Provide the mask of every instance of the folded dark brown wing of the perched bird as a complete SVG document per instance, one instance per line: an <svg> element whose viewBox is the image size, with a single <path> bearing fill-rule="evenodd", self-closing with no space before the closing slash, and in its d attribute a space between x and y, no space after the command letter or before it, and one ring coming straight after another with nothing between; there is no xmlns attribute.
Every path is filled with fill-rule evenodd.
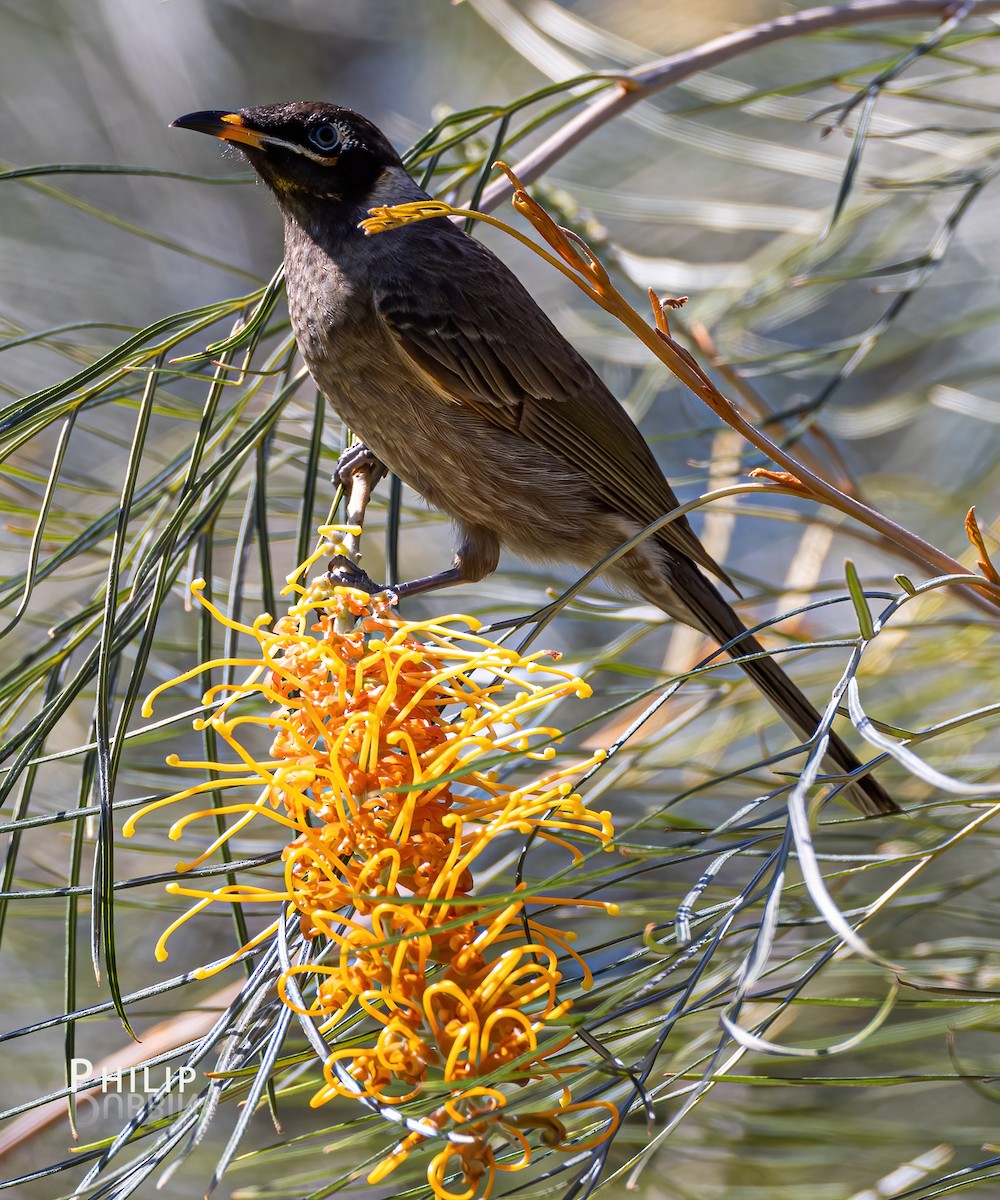
<svg viewBox="0 0 1000 1200"><path fill-rule="evenodd" d="M517 277L450 223L431 240L427 226L436 224L399 230L423 233L424 245L415 254L394 256L385 283L373 287L400 347L456 403L586 474L612 510L645 526L676 508L628 413ZM403 258L418 264L412 274L401 269ZM732 587L685 520L658 538Z"/></svg>

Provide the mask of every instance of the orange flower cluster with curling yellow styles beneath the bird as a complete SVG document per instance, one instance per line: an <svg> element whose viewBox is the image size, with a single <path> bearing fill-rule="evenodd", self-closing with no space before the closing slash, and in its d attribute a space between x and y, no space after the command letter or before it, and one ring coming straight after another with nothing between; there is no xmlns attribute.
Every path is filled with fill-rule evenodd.
<svg viewBox="0 0 1000 1200"><path fill-rule="evenodd" d="M529 912L594 901L533 895L523 886L487 896L474 878L477 859L491 846L496 858L497 839L508 835L516 845L526 835L547 839L577 860L581 851L570 839L609 844L609 814L588 809L571 782L600 755L523 784L498 770L555 757L558 731L531 724L533 714L589 689L544 654L521 656L480 637L472 618L403 622L387 604L324 580L292 587L298 600L273 629L267 617L234 625L196 589L220 620L259 647L258 658L239 660L251 668L248 679L210 689L204 702L212 713L196 722L211 725L236 762L181 764L172 756L176 766L211 767L221 778L146 805L125 828L131 835L142 816L188 796L256 785L256 799L190 814L169 835L218 812L236 816L181 866L190 869L250 821L275 821L288 832L285 889L172 884L197 904L163 934L157 958L166 956L173 930L212 902L279 900L285 912L298 912L303 934L322 953L282 978L282 1000L318 1019L323 1031L342 1030L346 1019L352 1031L373 1030L373 1040L357 1034L331 1052L313 1105L333 1097L389 1105L436 1097L435 1111L419 1118L420 1132L369 1181L383 1180L435 1140L441 1148L427 1168L433 1194L486 1196L498 1170L528 1165L532 1132L547 1147L576 1152L593 1142L571 1138L563 1117L581 1109L591 1124L600 1117L595 1141L617 1120L612 1105L574 1104L563 1082L571 1068L547 1061L571 1040L564 1021L559 1027L570 1007L558 995L561 960L575 961L583 986L591 977L569 935ZM181 679L233 664L216 660ZM146 714L162 690L146 701ZM264 698L269 712L234 712L247 697ZM245 728L262 725L274 732L263 761L247 748ZM276 929L277 922L251 944ZM359 1026L364 1016L370 1021ZM544 1080L561 1093L555 1109L508 1110L509 1085Z"/></svg>

